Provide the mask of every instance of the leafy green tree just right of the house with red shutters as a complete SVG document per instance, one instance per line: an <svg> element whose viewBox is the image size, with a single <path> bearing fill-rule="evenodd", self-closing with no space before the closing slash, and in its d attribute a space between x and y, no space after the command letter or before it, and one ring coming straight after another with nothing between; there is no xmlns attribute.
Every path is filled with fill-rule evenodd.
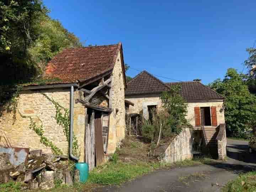
<svg viewBox="0 0 256 192"><path fill-rule="evenodd" d="M247 137L255 125L256 97L247 86L247 76L230 68L223 80L217 79L209 86L225 97L224 113L227 134L232 137Z"/></svg>

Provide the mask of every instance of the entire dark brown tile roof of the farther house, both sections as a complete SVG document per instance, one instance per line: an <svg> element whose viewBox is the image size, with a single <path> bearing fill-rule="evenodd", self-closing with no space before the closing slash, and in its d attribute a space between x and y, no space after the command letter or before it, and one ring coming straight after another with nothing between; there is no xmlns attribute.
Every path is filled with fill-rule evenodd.
<svg viewBox="0 0 256 192"><path fill-rule="evenodd" d="M223 96L197 81L164 83L147 71L142 71L128 84L125 95L153 94L168 91L170 86L180 85L181 96L186 101L224 99Z"/></svg>

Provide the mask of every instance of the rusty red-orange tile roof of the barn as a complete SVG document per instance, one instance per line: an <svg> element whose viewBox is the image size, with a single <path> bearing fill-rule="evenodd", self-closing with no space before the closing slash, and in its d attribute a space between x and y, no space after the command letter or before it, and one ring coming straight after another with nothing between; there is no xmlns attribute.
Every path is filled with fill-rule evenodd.
<svg viewBox="0 0 256 192"><path fill-rule="evenodd" d="M64 49L46 66L46 78L59 78L62 83L88 81L110 72L122 44Z"/></svg>

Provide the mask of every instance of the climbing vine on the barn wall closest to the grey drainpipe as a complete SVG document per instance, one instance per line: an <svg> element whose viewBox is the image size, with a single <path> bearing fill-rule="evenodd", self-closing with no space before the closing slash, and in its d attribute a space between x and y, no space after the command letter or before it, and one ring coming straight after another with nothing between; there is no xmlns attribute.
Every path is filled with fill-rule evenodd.
<svg viewBox="0 0 256 192"><path fill-rule="evenodd" d="M66 140L67 142L69 142L69 125L70 125L69 110L61 106L58 102L54 101L52 98L48 97L46 94L44 93L41 93L41 94L54 104L56 108L56 115L55 115L56 122L59 126L63 128L63 132L66 136ZM62 111L64 111L64 114L62 113ZM79 156L80 154L78 139L74 134L73 134L73 153L75 156Z"/></svg>

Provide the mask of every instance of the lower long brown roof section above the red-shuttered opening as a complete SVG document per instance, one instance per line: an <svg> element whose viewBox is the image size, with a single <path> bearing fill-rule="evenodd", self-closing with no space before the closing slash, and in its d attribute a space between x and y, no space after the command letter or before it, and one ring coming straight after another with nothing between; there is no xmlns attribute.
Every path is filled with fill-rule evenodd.
<svg viewBox="0 0 256 192"><path fill-rule="evenodd" d="M224 99L222 95L218 94L216 91L210 89L210 87L203 85L198 81L169 82L166 84L168 86L180 85L181 96L186 101Z"/></svg>

